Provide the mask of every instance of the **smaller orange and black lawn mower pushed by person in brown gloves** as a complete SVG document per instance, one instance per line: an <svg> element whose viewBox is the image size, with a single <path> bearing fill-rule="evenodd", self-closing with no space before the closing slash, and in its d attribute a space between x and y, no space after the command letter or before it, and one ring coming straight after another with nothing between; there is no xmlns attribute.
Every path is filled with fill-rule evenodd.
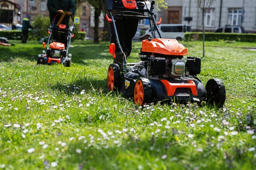
<svg viewBox="0 0 256 170"><path fill-rule="evenodd" d="M57 23L55 22L55 19L56 19L56 16L55 16L50 29L48 29L49 38L47 41L47 49L45 51L45 42L43 42L44 50L42 54L38 54L37 64L48 64L48 65L63 64L64 66L67 66L67 67L70 66L72 54L68 53L68 51L70 48L71 38L74 37L74 34L73 34L74 19L71 16L72 18L71 26L60 24L63 18L65 17L65 15L66 13L63 13ZM67 40L66 40L67 46L65 46L65 43L59 40L51 40L51 36L54 33L56 34L61 33L61 34L67 35Z"/></svg>

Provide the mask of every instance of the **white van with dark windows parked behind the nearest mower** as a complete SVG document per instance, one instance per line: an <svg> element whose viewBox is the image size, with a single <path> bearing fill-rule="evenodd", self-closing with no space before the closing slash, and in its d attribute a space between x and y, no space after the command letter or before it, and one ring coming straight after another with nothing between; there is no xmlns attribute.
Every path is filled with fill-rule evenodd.
<svg viewBox="0 0 256 170"><path fill-rule="evenodd" d="M184 34L186 32L191 32L191 25L189 24L160 24L158 28L163 36L163 38L171 38L181 41L184 39ZM151 29L147 29L146 33L151 34ZM156 32L156 38L159 38Z"/></svg>

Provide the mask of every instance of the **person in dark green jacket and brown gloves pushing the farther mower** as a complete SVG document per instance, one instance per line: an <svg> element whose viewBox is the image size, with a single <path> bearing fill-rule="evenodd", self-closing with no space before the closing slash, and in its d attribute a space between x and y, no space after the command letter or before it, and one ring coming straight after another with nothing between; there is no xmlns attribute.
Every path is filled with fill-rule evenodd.
<svg viewBox="0 0 256 170"><path fill-rule="evenodd" d="M49 10L50 15L50 22L51 24L54 21L55 18L55 24L57 24L58 20L61 18L61 15L65 12L66 15L61 21L61 24L65 24L69 26L70 23L70 16L74 15L76 12L76 4L74 0L47 0L47 8ZM54 40L59 40L60 42L63 42L65 44L65 48L67 48L67 35L62 34L53 34Z"/></svg>

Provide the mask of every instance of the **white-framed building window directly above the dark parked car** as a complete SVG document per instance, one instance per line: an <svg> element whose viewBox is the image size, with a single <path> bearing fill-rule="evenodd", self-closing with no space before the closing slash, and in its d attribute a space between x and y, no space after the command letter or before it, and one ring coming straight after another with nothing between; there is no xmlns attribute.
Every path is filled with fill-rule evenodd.
<svg viewBox="0 0 256 170"><path fill-rule="evenodd" d="M243 9L229 9L228 24L241 25Z"/></svg>

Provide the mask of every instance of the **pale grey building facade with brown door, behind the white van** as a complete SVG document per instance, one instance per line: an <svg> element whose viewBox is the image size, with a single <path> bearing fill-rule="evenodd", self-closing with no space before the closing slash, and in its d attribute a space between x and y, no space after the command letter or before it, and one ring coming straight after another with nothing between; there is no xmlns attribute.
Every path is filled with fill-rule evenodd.
<svg viewBox="0 0 256 170"><path fill-rule="evenodd" d="M207 2L208 0L206 0ZM163 24L191 24L192 31L202 31L202 13L195 0L165 0L167 10L159 11ZM205 31L225 25L244 26L256 33L256 0L216 0L204 17Z"/></svg>

